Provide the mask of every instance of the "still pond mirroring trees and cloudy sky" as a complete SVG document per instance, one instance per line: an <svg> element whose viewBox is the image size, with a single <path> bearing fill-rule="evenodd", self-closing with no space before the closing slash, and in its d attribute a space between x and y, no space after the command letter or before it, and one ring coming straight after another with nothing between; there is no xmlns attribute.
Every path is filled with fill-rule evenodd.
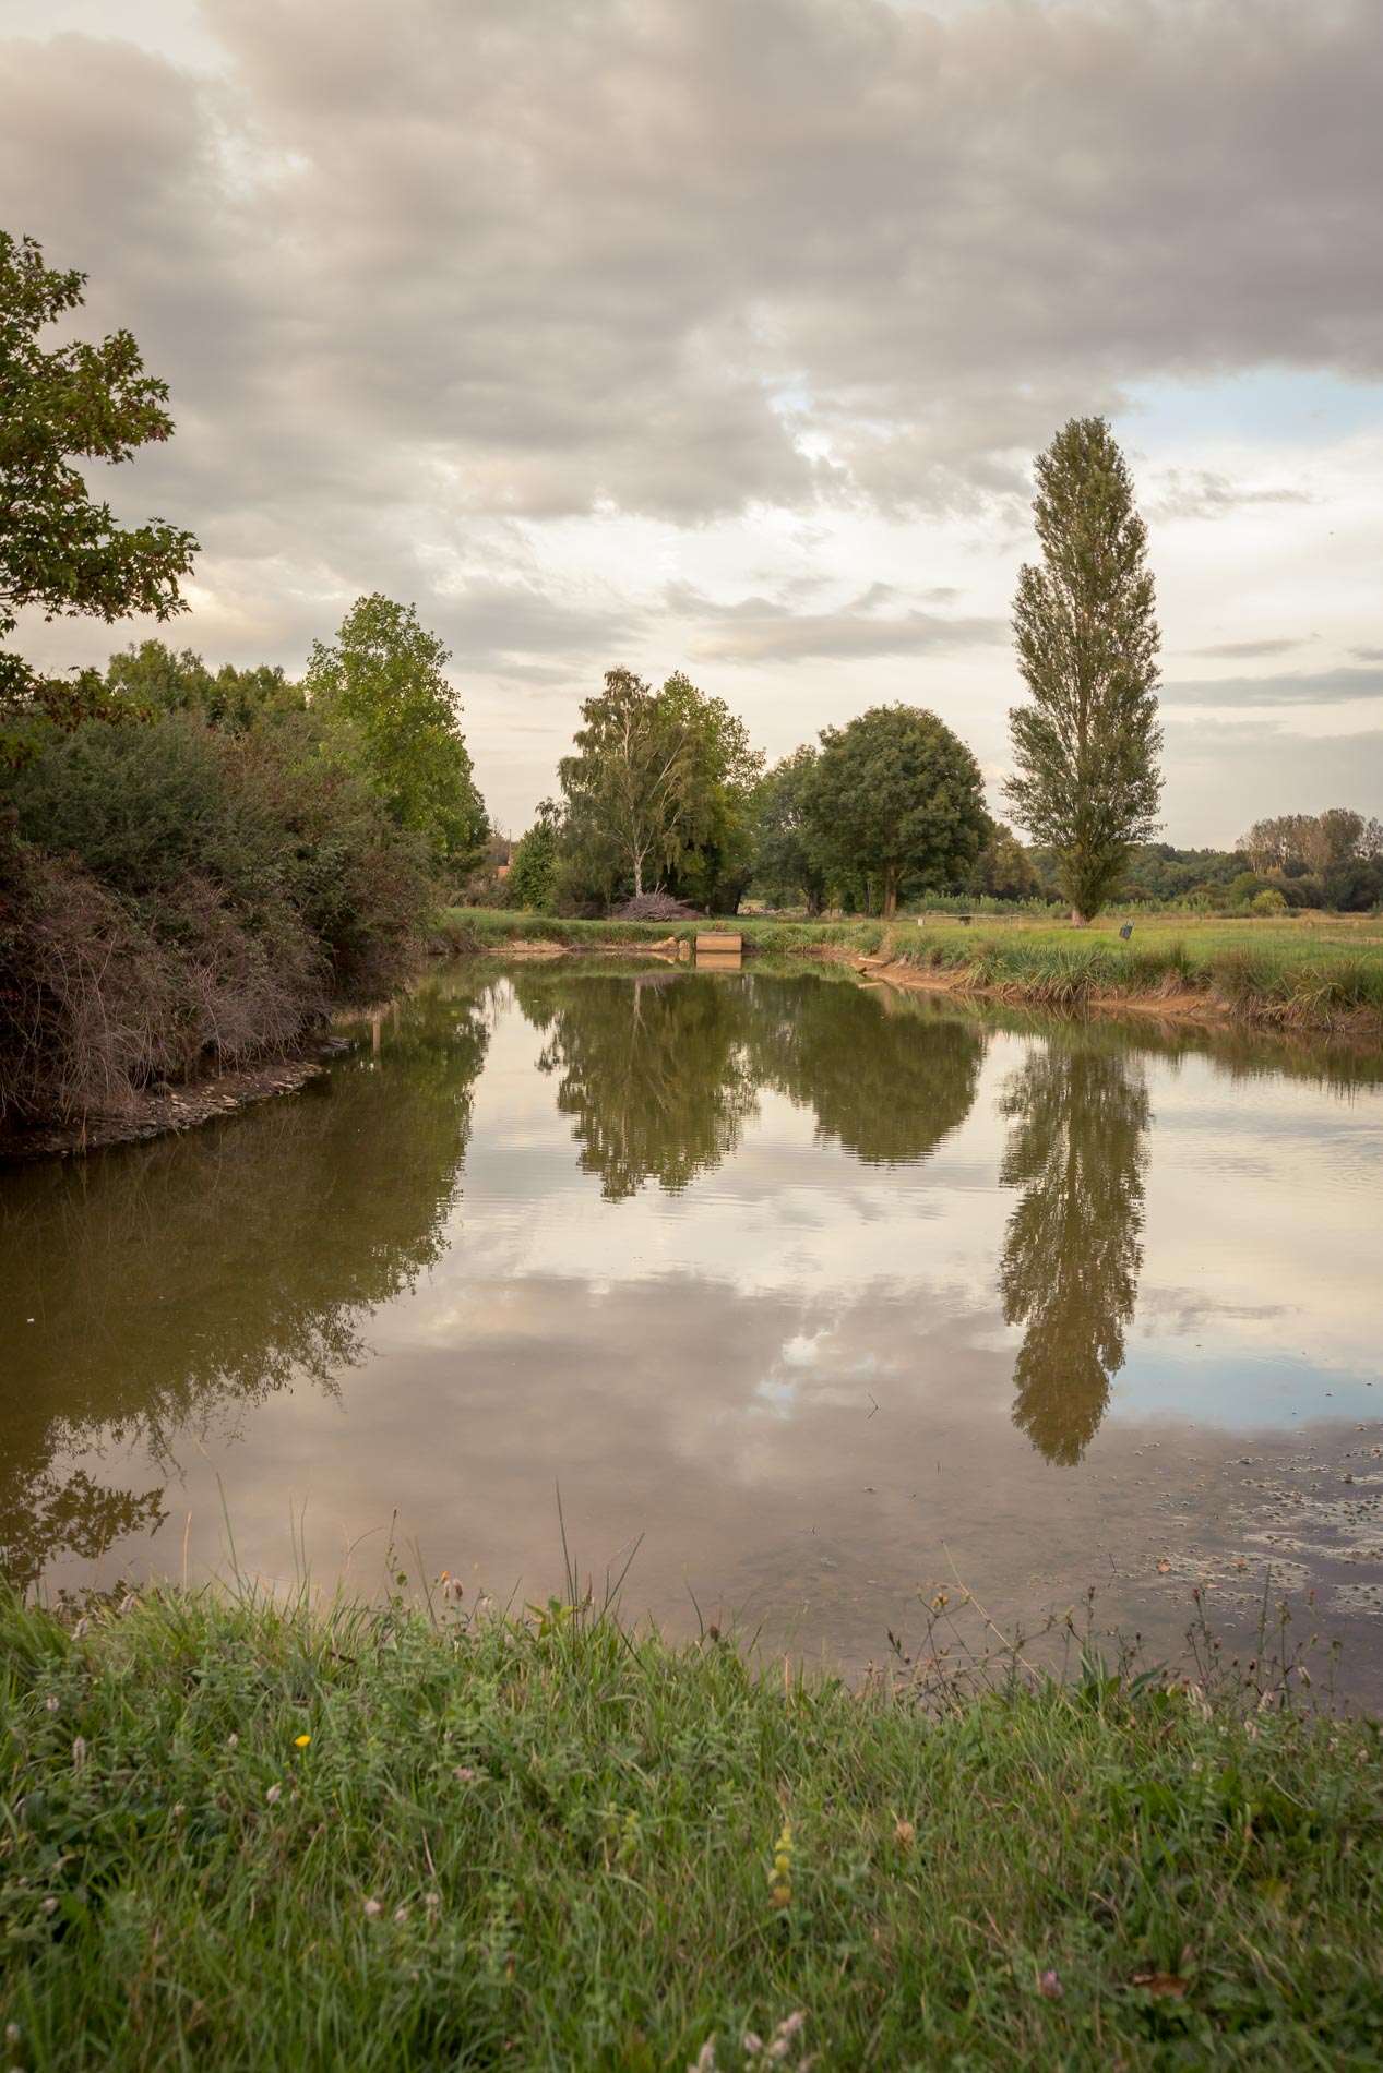
<svg viewBox="0 0 1383 2073"><path fill-rule="evenodd" d="M359 1036L0 1177L19 1582L377 1590L392 1544L506 1605L564 1528L626 1615L852 1673L962 1588L1153 1652L1288 1590L1379 1698L1377 1055L572 960Z"/></svg>

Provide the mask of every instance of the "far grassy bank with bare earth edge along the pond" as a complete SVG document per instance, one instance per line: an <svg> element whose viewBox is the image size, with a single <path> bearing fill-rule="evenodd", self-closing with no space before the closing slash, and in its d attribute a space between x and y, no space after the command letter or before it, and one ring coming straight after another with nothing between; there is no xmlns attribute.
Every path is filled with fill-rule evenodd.
<svg viewBox="0 0 1383 2073"><path fill-rule="evenodd" d="M444 941L471 954L626 952L690 943L732 929L746 956L871 960L892 983L1012 1005L1342 1030L1383 1041L1383 925L1373 920L1153 920L1124 941L1113 920L1089 931L1031 920L904 916L881 920L599 922L452 908Z"/></svg>

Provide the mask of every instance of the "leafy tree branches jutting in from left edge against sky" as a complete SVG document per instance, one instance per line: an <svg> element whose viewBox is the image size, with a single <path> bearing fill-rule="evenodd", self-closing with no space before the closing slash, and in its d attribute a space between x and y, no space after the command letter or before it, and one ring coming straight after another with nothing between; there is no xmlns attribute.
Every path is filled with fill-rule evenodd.
<svg viewBox="0 0 1383 2073"><path fill-rule="evenodd" d="M116 524L81 473L81 462L118 464L170 437L166 384L143 371L129 332L100 346L39 346L44 325L83 303L85 280L44 265L33 238L0 230L0 643L25 607L106 622L185 609L178 576L191 570L193 535L162 518ZM23 721L35 715L70 728L122 709L112 709L95 672L48 678L0 647L0 761L31 755Z"/></svg>

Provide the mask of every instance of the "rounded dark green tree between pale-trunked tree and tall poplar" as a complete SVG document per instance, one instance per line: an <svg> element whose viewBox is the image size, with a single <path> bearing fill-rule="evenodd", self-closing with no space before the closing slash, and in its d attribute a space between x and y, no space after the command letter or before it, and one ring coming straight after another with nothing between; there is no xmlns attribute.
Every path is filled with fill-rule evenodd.
<svg viewBox="0 0 1383 2073"><path fill-rule="evenodd" d="M979 763L914 705L875 705L823 730L807 817L821 856L879 873L885 920L904 877L921 885L964 877L989 833Z"/></svg>

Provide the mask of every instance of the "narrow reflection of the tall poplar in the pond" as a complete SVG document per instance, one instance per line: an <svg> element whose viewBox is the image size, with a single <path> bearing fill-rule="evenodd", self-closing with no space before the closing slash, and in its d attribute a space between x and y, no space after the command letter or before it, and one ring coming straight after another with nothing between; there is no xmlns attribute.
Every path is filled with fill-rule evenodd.
<svg viewBox="0 0 1383 2073"><path fill-rule="evenodd" d="M999 1103L999 1180L1022 1188L999 1265L1004 1318L1026 1325L1014 1424L1062 1466L1099 1430L1142 1267L1151 1107L1142 1061L1118 1045L1111 1030L1035 1045Z"/></svg>

